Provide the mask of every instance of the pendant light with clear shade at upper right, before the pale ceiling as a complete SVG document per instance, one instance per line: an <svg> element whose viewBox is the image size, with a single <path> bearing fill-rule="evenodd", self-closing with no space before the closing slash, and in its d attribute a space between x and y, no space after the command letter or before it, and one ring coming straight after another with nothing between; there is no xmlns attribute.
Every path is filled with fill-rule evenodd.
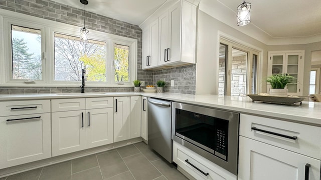
<svg viewBox="0 0 321 180"><path fill-rule="evenodd" d="M238 26L243 26L251 22L251 3L245 2L237 6L237 24Z"/></svg>

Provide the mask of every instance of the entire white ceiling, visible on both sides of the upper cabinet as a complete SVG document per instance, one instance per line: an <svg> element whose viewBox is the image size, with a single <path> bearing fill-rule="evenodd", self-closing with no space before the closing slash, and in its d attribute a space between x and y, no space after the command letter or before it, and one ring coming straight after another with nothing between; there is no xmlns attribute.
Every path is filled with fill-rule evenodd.
<svg viewBox="0 0 321 180"><path fill-rule="evenodd" d="M80 0L55 1L83 8ZM139 25L165 1L167 0L88 0L85 10ZM254 37L253 32L260 34L256 36L265 35L266 37L257 39L266 44L269 44L270 39L299 39L293 43L309 39L305 42L308 43L321 38L321 0L246 0L252 4L251 24L238 27L236 9L242 2L243 0L200 0L200 10L240 31L247 31L246 34L253 34ZM250 28L252 31L248 30Z"/></svg>

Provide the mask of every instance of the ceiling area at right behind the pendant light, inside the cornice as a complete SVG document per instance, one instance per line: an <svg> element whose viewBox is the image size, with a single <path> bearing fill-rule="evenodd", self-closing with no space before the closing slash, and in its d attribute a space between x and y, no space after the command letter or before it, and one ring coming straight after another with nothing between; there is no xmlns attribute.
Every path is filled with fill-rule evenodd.
<svg viewBox="0 0 321 180"><path fill-rule="evenodd" d="M242 0L218 0L236 13ZM321 34L321 0L245 0L251 23L274 38Z"/></svg>

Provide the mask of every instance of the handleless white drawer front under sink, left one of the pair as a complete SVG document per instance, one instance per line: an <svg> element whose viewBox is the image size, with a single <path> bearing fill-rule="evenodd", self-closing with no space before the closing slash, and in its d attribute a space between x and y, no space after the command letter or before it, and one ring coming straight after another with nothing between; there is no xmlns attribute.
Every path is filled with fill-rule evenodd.
<svg viewBox="0 0 321 180"><path fill-rule="evenodd" d="M52 99L51 111L82 110L86 108L85 98Z"/></svg>

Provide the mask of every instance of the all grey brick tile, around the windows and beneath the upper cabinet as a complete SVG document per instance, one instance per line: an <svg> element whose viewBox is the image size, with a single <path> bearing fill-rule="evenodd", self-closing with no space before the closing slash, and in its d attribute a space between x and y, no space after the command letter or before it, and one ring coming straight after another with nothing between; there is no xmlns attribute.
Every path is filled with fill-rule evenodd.
<svg viewBox="0 0 321 180"><path fill-rule="evenodd" d="M46 18L82 27L83 9L52 0L0 0L0 9L7 9L27 15ZM145 84L156 84L158 79L167 81L166 91L195 94L196 65L186 65L162 70L141 69L142 30L128 22L85 11L86 27L125 37L137 39L137 79ZM170 74L173 73L173 74ZM175 86L171 87L171 80ZM0 93L63 93L79 92L78 87L12 87L0 86ZM87 87L86 92L133 91L133 87Z"/></svg>

